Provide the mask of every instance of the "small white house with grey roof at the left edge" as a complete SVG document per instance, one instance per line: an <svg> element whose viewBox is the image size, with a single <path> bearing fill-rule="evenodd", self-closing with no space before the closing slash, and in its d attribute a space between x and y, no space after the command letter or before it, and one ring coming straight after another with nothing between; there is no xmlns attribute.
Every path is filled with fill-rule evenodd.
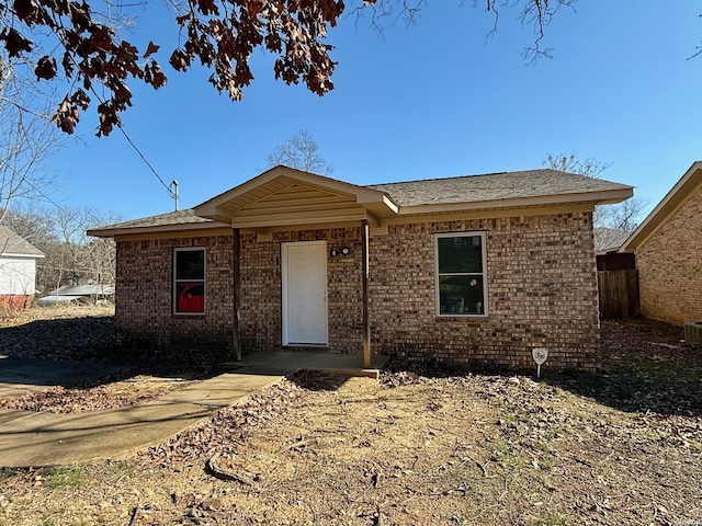
<svg viewBox="0 0 702 526"><path fill-rule="evenodd" d="M0 226L0 307L26 308L36 293L36 260L44 253Z"/></svg>

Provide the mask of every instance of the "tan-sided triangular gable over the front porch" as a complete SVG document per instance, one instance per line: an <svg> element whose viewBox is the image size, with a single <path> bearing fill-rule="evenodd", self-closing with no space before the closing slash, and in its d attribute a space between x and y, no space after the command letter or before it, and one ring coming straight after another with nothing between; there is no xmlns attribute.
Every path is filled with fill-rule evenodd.
<svg viewBox="0 0 702 526"><path fill-rule="evenodd" d="M269 228L367 219L378 224L397 206L383 192L276 167L200 206L197 216L235 228Z"/></svg>

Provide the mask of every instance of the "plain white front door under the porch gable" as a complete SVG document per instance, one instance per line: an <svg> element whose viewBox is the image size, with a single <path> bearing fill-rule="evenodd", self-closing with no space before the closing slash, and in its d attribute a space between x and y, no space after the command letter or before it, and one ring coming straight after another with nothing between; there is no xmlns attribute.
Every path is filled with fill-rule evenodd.
<svg viewBox="0 0 702 526"><path fill-rule="evenodd" d="M283 345L327 345L327 243L283 243Z"/></svg>

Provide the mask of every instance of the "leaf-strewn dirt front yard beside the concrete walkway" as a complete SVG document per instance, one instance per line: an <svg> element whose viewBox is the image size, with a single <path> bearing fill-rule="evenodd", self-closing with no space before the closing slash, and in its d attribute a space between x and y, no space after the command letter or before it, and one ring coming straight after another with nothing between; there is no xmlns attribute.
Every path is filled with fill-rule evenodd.
<svg viewBox="0 0 702 526"><path fill-rule="evenodd" d="M700 526L702 346L680 333L608 321L602 374L539 381L297 375L121 461L0 470L0 524Z"/></svg>

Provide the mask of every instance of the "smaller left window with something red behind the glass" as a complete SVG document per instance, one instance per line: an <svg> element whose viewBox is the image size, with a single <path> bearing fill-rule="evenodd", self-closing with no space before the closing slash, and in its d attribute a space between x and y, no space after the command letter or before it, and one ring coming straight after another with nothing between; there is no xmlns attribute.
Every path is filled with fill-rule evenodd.
<svg viewBox="0 0 702 526"><path fill-rule="evenodd" d="M205 313L205 249L173 251L173 312Z"/></svg>

